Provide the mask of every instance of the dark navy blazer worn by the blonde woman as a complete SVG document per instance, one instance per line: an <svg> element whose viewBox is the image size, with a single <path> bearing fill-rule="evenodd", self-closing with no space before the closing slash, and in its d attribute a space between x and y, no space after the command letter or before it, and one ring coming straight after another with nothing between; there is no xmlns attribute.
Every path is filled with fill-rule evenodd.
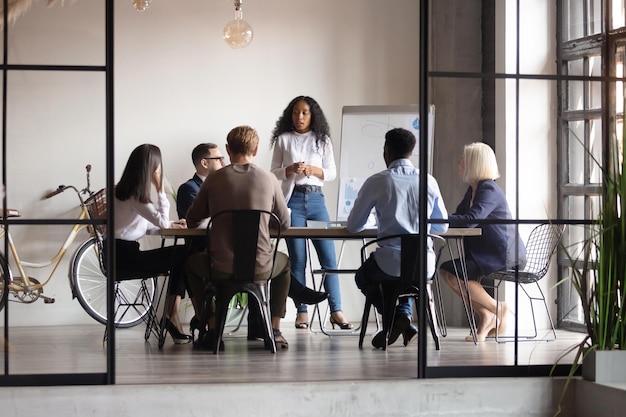
<svg viewBox="0 0 626 417"><path fill-rule="evenodd" d="M512 218L509 204L500 187L493 180L478 183L476 195L470 207L472 187L468 187L463 201L449 216L451 227L480 227L481 236L464 239L465 253L470 255L485 275L516 264L523 265L526 260L526 248L513 224L472 223L477 219ZM469 221L469 223L467 223ZM518 243L518 256L515 256L515 242Z"/></svg>

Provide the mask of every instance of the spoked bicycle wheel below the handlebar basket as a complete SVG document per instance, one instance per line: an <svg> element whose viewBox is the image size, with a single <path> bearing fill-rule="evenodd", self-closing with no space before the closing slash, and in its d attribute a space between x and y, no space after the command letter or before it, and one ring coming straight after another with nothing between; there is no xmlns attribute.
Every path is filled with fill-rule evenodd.
<svg viewBox="0 0 626 417"><path fill-rule="evenodd" d="M100 268L98 246L92 238L83 243L72 262L72 282L78 302L91 317L107 321L107 278ZM115 283L115 325L132 327L148 319L156 301L156 278Z"/></svg>

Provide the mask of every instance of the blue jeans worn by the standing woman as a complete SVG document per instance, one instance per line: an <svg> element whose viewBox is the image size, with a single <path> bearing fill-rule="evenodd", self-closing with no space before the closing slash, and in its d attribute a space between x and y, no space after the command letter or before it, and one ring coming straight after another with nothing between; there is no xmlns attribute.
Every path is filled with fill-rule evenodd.
<svg viewBox="0 0 626 417"><path fill-rule="evenodd" d="M287 206L291 209L291 225L293 227L304 227L307 220L330 221L323 193L294 191ZM291 273L299 282L306 285L306 240L285 239L285 241L291 261ZM335 244L332 240L313 240L313 246L322 268L337 268ZM339 293L337 274L326 275L324 289L328 293L328 305L331 313L341 311L341 294ZM307 312L307 306L304 304L296 305L296 307L298 313Z"/></svg>

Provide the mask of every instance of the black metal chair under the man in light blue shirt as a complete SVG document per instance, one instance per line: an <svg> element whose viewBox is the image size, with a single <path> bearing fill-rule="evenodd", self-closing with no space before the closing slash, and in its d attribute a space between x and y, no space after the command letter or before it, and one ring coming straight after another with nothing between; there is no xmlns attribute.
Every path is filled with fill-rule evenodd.
<svg viewBox="0 0 626 417"><path fill-rule="evenodd" d="M359 349L363 348L363 339L367 330L367 322L370 315L370 309L372 306L372 297L376 292L382 294L383 306L379 313L382 315L383 329L385 334L385 344L382 347L383 350L387 348L387 342L389 340L389 334L393 327L393 320L395 317L396 303L399 297L413 297L417 301L419 296L419 273L420 265L419 259L419 235L417 234L402 234L391 235L382 238L374 239L367 242L361 247L361 262L367 260L367 250L371 245L377 244L384 240L400 238L401 240L401 260L400 260L400 279L393 281L385 281L379 284L370 285L365 293L365 307L363 308L363 317L361 318L361 332L359 334ZM442 239L439 236L431 236L434 239ZM439 334L440 332L436 328L436 307L432 297L431 281L427 282L428 292L428 308L426 309L428 324L431 330L431 334L435 341L435 348L440 349ZM418 312L419 313L419 312Z"/></svg>

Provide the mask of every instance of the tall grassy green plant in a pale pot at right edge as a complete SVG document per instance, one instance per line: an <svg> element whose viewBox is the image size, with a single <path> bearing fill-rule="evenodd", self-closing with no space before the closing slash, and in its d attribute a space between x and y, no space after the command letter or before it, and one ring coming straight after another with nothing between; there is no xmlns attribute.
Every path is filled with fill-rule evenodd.
<svg viewBox="0 0 626 417"><path fill-rule="evenodd" d="M587 379L603 382L615 381L616 377L626 379L626 152L615 143L609 155L610 161L602 170L598 221L583 242L581 256L574 256L567 247L562 247L572 265L572 274L559 284L569 281L578 293L587 336L557 359L558 363L576 351L555 415L559 414L560 403L581 363L583 377Z"/></svg>

